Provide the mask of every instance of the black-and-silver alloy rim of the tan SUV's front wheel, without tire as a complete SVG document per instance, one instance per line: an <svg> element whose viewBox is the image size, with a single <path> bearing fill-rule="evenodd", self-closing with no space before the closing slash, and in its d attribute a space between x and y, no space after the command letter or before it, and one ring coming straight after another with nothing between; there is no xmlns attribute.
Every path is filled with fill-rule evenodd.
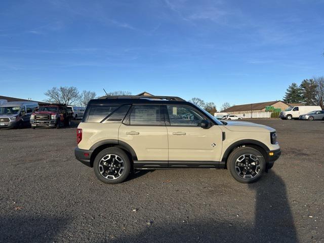
<svg viewBox="0 0 324 243"><path fill-rule="evenodd" d="M260 172L260 161L253 154L240 155L235 161L237 175L244 179L252 179Z"/></svg>

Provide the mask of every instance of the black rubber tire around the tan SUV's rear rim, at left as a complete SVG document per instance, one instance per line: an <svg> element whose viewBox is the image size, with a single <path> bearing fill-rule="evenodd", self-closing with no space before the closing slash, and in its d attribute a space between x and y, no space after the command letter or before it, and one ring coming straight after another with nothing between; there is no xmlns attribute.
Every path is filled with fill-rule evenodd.
<svg viewBox="0 0 324 243"><path fill-rule="evenodd" d="M121 172L121 175L116 178L116 179L107 179L104 177L103 174L107 175L105 172L106 171L103 171L102 173L100 172L100 169L99 169L99 166L101 165L102 167L102 159L107 156L108 154L112 154L112 155L117 155L118 157L120 157L122 160L123 160L123 164L124 164L124 171ZM111 156L112 159L114 158L113 156ZM116 157L115 157L116 158ZM114 161L116 161L117 159L115 160L112 160L109 161L109 163L114 163ZM100 164L101 163L101 164ZM120 163L118 162L117 160L117 164ZM110 165L107 166L107 168L109 167ZM130 171L131 171L131 162L130 162L130 159L128 157L128 155L124 152L124 150L120 149L120 148L115 148L115 147L111 147L111 148L106 148L104 150L102 150L101 152L99 152L95 158L95 161L93 163L93 169L94 169L94 172L95 172L95 175L96 177L104 182L104 183L107 183L107 184L118 184L118 183L121 183L123 181L126 180L126 178L128 177L128 175L130 174ZM104 170L104 168L102 167L102 170ZM108 170L107 170L108 171ZM119 171L120 172L120 171Z"/></svg>

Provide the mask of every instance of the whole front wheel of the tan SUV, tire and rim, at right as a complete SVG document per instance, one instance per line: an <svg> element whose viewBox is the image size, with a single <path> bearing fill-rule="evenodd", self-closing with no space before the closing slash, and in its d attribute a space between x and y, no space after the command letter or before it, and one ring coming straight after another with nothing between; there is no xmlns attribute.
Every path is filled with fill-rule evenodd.
<svg viewBox="0 0 324 243"><path fill-rule="evenodd" d="M259 180L265 167L265 159L261 152L251 147L235 149L227 160L227 169L234 179L241 183Z"/></svg>

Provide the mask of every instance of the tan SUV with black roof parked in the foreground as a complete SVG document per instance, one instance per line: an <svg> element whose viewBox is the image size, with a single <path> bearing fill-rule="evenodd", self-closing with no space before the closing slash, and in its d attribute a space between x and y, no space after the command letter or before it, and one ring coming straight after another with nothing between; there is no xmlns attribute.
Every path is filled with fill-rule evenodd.
<svg viewBox="0 0 324 243"><path fill-rule="evenodd" d="M179 97L104 96L91 100L77 128L75 157L99 180L123 182L135 169L227 168L251 183L280 155L276 131L219 121Z"/></svg>

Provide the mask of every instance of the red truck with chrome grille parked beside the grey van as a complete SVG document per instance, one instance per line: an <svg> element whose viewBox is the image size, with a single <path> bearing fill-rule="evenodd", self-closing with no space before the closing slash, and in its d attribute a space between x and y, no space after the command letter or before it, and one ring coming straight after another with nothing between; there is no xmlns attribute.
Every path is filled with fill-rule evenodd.
<svg viewBox="0 0 324 243"><path fill-rule="evenodd" d="M39 109L31 114L30 125L36 127L69 127L71 124L71 109L65 104L39 105Z"/></svg>

